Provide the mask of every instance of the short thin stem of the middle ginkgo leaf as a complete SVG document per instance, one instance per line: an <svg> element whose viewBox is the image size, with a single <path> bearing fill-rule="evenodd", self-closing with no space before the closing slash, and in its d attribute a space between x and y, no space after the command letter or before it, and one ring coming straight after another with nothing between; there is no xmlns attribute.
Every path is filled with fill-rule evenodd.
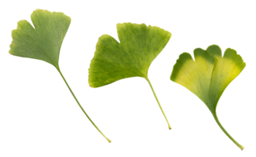
<svg viewBox="0 0 256 157"><path fill-rule="evenodd" d="M156 104L158 105L160 111L161 111L161 114L163 115L163 118L164 120L166 121L166 124L167 124L167 127L168 127L168 131L171 131L172 130L172 126L170 125L170 121L166 115L166 111L164 111L163 109L163 105L161 104L160 100L159 100L159 97L157 96L157 93L155 92L155 88L151 82L151 80L149 79L149 77L145 78L145 81L148 82L148 86L150 87L151 91L152 91L152 94L153 96L155 97L155 101L156 101Z"/></svg>

